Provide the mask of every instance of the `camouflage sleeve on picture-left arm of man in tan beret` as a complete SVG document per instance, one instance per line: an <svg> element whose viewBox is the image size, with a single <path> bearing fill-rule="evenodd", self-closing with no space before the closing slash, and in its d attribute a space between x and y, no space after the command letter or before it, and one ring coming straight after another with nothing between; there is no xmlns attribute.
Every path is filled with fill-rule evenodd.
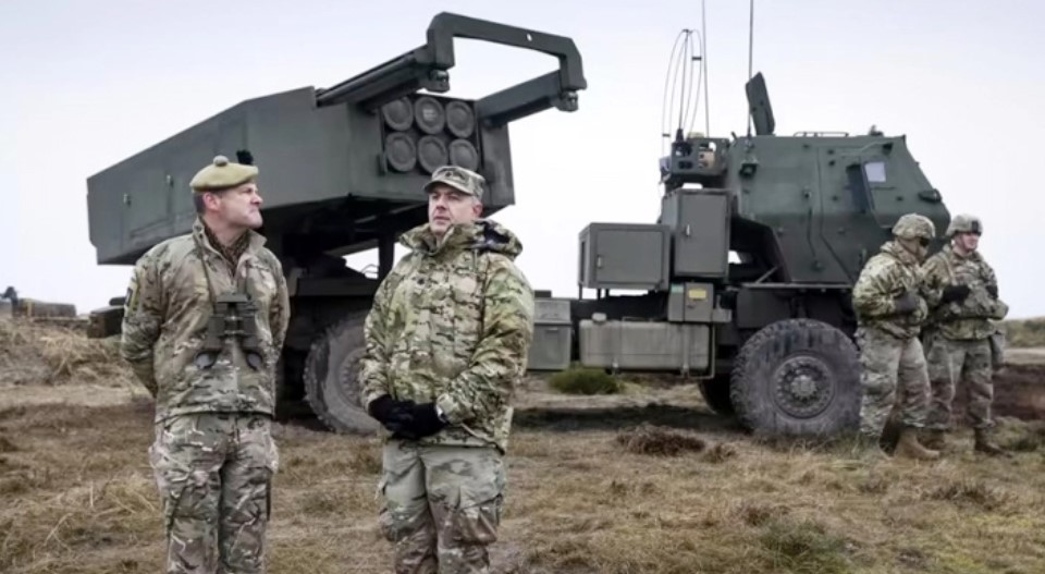
<svg viewBox="0 0 1045 574"><path fill-rule="evenodd" d="M157 259L146 254L134 267L127 300L124 303L120 355L131 365L135 376L156 396L152 371L152 345L160 337L165 307Z"/></svg>

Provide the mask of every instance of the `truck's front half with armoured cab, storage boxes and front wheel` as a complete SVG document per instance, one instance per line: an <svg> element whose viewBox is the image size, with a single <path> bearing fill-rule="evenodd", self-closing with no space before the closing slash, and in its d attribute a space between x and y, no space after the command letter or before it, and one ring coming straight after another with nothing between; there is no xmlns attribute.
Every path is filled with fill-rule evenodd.
<svg viewBox="0 0 1045 574"><path fill-rule="evenodd" d="M580 233L578 286L597 297L539 302L569 305L571 346L539 329L560 354L531 367L675 373L759 432L852 429L851 288L900 216L943 230L949 213L905 137L777 135L761 74L747 93L754 134L676 134L657 221Z"/></svg>

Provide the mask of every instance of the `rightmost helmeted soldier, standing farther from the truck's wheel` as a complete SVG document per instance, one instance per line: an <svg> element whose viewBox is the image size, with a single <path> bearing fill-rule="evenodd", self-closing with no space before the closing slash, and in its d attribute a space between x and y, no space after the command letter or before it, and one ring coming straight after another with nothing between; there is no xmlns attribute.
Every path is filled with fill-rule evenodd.
<svg viewBox="0 0 1045 574"><path fill-rule="evenodd" d="M989 440L994 422L991 403L992 320L1001 320L1008 306L998 298L998 280L980 252L980 219L955 216L947 227L950 244L930 257L923 266L923 292L930 305L931 329L925 333L929 349L929 375L933 400L926 427L933 448L944 447L944 435L951 425L951 402L960 381L969 389L969 417L975 429L975 450L1003 454Z"/></svg>

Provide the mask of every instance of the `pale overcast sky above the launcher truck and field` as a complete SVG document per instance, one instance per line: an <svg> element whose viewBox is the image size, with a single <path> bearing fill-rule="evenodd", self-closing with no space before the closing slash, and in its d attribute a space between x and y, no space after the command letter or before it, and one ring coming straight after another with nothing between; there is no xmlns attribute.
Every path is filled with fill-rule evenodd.
<svg viewBox="0 0 1045 574"><path fill-rule="evenodd" d="M3 2L0 289L81 312L121 295L128 269L96 265L88 240L89 175L245 99L329 86L413 49L445 10L569 36L583 57L578 112L512 124L517 205L496 218L521 236L519 264L536 288L576 295L586 224L657 216L668 57L683 27L701 25L693 0L585 4ZM754 69L766 76L777 133L862 134L874 124L906 134L951 212L983 218L982 251L1010 317L1045 315L1034 279L1045 246L1035 143L1045 127L1043 7L755 5ZM711 132L741 134L748 2L706 0L706 17ZM552 66L542 54L460 42L450 95L481 96Z"/></svg>

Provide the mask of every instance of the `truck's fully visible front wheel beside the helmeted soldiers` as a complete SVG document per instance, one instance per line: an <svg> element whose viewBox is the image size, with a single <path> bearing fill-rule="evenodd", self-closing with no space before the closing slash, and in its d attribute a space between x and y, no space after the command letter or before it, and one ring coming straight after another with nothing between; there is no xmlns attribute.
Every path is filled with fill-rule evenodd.
<svg viewBox="0 0 1045 574"><path fill-rule="evenodd" d="M762 328L740 349L730 396L741 425L762 436L829 437L860 420L857 346L813 319Z"/></svg>

